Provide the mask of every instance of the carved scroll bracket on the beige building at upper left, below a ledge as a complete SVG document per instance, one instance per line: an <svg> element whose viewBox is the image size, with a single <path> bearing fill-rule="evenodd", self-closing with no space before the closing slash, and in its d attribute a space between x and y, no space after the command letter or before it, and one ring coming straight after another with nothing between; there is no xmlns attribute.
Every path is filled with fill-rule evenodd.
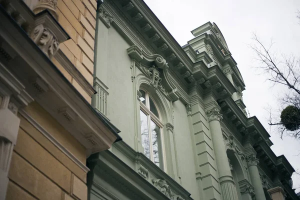
<svg viewBox="0 0 300 200"><path fill-rule="evenodd" d="M37 25L30 35L37 46L51 58L59 48L59 43L51 30L42 24Z"/></svg>

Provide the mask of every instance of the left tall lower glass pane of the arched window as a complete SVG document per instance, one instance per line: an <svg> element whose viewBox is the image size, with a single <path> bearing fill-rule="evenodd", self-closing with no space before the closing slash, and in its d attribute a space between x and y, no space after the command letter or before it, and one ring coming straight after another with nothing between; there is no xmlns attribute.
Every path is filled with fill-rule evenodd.
<svg viewBox="0 0 300 200"><path fill-rule="evenodd" d="M148 120L145 113L139 110L140 114L140 132L141 132L141 145L144 148L144 154L150 159L150 146L149 146L149 130Z"/></svg>

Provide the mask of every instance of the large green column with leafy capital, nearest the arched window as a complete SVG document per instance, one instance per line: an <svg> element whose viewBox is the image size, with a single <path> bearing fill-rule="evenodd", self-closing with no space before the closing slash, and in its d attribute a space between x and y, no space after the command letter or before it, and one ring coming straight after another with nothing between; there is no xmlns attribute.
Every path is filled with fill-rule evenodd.
<svg viewBox="0 0 300 200"><path fill-rule="evenodd" d="M220 119L222 119L222 114L219 113L219 110L216 107L213 107L206 111L206 115L208 117L208 123L210 127L210 133L223 200L237 200L238 198L236 188L234 185L233 178L231 176L230 166L225 151L225 144L223 141L222 130L220 125Z"/></svg>

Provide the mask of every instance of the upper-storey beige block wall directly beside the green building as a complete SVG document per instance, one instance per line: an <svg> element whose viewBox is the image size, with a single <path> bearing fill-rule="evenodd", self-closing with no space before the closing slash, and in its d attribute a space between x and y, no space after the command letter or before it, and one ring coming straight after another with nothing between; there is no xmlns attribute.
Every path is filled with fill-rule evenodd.
<svg viewBox="0 0 300 200"><path fill-rule="evenodd" d="M96 0L57 0L58 22L71 37L59 48L92 85ZM55 58L52 60L74 87L90 102L88 93Z"/></svg>

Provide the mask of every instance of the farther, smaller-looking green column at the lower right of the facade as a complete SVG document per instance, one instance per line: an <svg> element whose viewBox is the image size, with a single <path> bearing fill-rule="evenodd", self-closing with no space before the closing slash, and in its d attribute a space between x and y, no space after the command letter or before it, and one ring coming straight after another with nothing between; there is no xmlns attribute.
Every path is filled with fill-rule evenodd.
<svg viewBox="0 0 300 200"><path fill-rule="evenodd" d="M250 174L251 183L255 190L256 199L266 200L263 192L260 176L258 173L257 164L259 163L259 161L256 158L256 155L254 153L251 153L250 155L246 156L246 162L248 165L248 171Z"/></svg>

